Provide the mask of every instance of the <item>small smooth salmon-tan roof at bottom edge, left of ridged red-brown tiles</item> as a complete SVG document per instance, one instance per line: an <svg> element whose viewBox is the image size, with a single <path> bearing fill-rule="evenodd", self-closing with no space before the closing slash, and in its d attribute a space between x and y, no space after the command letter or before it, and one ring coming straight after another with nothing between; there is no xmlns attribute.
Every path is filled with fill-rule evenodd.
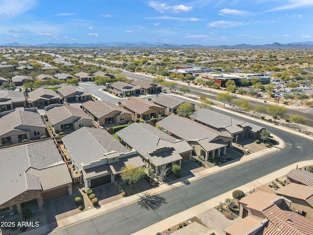
<svg viewBox="0 0 313 235"><path fill-rule="evenodd" d="M260 221L246 217L223 231L230 235L244 235L247 231L250 231L253 228L257 229L258 226L262 226Z"/></svg>

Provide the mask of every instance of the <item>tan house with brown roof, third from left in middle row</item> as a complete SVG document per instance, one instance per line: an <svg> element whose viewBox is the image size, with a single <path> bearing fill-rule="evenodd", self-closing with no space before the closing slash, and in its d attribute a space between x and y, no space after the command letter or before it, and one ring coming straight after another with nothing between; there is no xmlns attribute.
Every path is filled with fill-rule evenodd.
<svg viewBox="0 0 313 235"><path fill-rule="evenodd" d="M112 102L103 100L87 101L82 104L85 113L90 115L98 125L108 123L123 124L132 121L132 114Z"/></svg>

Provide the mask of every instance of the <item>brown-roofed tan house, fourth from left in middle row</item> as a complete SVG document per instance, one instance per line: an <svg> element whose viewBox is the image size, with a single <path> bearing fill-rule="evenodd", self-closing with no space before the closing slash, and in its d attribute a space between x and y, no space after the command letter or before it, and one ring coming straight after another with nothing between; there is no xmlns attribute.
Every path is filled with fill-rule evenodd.
<svg viewBox="0 0 313 235"><path fill-rule="evenodd" d="M163 116L165 114L163 107L134 96L129 97L128 100L118 102L118 106L130 111L134 121L139 118L144 120L157 118L159 115Z"/></svg>

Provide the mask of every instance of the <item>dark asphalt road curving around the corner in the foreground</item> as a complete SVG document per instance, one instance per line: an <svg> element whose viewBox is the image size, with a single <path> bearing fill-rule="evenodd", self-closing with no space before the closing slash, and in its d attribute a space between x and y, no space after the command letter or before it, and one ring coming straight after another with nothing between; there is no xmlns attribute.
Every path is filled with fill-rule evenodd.
<svg viewBox="0 0 313 235"><path fill-rule="evenodd" d="M260 124L224 111L219 112ZM191 182L189 185L182 185L160 193L159 195L165 199L166 203L154 211L143 209L138 203L133 203L60 230L54 235L129 235L287 165L313 159L311 140L267 126L266 123L262 123L262 125L285 141L284 149L206 176Z"/></svg>

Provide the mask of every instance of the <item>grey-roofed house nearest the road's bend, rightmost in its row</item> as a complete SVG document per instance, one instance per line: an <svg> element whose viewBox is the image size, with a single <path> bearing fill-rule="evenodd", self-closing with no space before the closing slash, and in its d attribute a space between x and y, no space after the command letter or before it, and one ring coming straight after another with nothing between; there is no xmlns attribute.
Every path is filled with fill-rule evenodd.
<svg viewBox="0 0 313 235"><path fill-rule="evenodd" d="M207 109L199 109L189 118L219 132L228 132L237 141L242 138L257 140L266 128Z"/></svg>

